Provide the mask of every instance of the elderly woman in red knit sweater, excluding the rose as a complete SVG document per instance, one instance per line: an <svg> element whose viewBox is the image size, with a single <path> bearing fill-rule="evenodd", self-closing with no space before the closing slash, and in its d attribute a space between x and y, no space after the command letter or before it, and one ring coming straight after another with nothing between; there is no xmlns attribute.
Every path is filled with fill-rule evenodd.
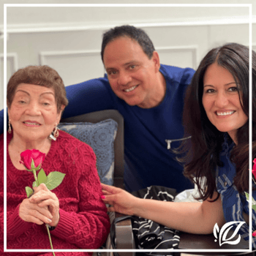
<svg viewBox="0 0 256 256"><path fill-rule="evenodd" d="M100 198L95 154L86 143L56 128L67 103L64 83L50 67L25 67L9 80L7 249L50 249L43 224L50 225L54 249L97 249L108 236L110 222ZM1 135L1 145L3 140ZM31 187L34 181L33 174L20 163L20 153L26 149L46 154L42 169L47 176L52 171L65 174L53 192L40 184L34 187L34 195L26 198L25 187ZM4 148L0 150L3 156ZM0 165L3 166L3 158ZM3 176L0 186L3 187Z"/></svg>

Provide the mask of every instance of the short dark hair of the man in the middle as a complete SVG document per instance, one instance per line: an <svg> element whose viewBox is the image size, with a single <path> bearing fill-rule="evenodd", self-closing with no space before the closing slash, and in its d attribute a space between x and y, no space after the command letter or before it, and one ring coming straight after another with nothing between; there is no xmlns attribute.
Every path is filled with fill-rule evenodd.
<svg viewBox="0 0 256 256"><path fill-rule="evenodd" d="M103 55L105 47L108 45L109 42L112 42L114 39L117 39L119 37L129 37L130 39L135 40L138 42L138 44L143 49L143 52L146 53L148 56L148 59L151 59L154 52L154 45L151 39L148 37L148 34L146 34L143 29L135 28L135 26L116 26L113 29L110 29L106 31L103 34L102 39L102 50L101 50L101 56L102 56L102 62L103 61Z"/></svg>

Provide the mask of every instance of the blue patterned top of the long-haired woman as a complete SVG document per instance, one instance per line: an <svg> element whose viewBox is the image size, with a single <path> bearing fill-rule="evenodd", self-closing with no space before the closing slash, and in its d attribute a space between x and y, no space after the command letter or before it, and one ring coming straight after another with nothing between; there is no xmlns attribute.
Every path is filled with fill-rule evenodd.
<svg viewBox="0 0 256 256"><path fill-rule="evenodd" d="M216 184L217 191L222 198L222 208L226 222L244 222L243 211L249 214L249 203L246 201L245 195L239 194L233 184L233 178L236 176L236 165L230 161L230 151L234 145L234 143L228 143L227 136L225 136L220 154L223 167L217 167ZM252 196L256 199L256 190L253 191ZM236 229L236 225L233 225L233 229ZM252 232L255 230L256 214L255 211L252 211ZM252 232L249 230L249 226L244 224L239 229L238 234L248 241ZM252 248L256 248L256 238L254 237L252 237Z"/></svg>

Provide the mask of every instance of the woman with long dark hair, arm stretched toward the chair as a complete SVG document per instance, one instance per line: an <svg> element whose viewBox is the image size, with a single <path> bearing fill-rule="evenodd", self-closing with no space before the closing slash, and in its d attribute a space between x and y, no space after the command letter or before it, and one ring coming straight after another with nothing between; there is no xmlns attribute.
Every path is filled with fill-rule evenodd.
<svg viewBox="0 0 256 256"><path fill-rule="evenodd" d="M252 95L256 93L256 53L252 53ZM256 100L252 98L252 153L256 157ZM241 237L249 240L249 50L227 44L210 50L195 72L184 105L184 174L195 177L203 203L172 203L141 199L102 184L110 211L152 219L187 233L208 234L214 225L242 223ZM188 162L189 160L189 162ZM206 177L202 184L201 177ZM250 181L252 182L252 181ZM252 191L256 199L256 190ZM236 227L233 225L233 227ZM252 227L256 214L252 211ZM252 238L256 248L256 238Z"/></svg>

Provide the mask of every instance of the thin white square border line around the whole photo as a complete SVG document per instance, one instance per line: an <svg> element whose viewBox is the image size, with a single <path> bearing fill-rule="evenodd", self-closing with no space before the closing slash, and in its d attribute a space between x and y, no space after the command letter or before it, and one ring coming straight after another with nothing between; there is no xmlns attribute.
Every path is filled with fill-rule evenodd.
<svg viewBox="0 0 256 256"><path fill-rule="evenodd" d="M7 7L249 7L249 118L252 120L252 4L4 4L4 127L7 127ZM249 170L252 170L252 124L249 123ZM252 172L249 172L249 181ZM252 192L252 183L249 182ZM252 233L252 198L249 200ZM152 249L54 249L54 252L152 252ZM154 252L251 252L249 249L155 249ZM7 130L4 129L4 252L52 252L51 249L7 249Z"/></svg>

